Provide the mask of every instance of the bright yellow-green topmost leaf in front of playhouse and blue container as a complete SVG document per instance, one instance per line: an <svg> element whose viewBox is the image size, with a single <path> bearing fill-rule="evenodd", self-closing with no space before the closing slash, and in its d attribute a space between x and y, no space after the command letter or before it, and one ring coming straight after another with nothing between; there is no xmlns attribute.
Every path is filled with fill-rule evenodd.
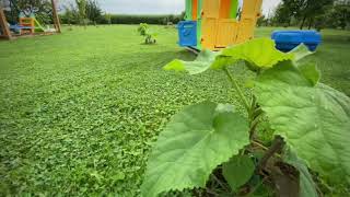
<svg viewBox="0 0 350 197"><path fill-rule="evenodd" d="M211 68L222 69L238 60L244 60L248 63L250 69L255 71L261 68L271 68L279 61L293 60L293 58L294 54L285 54L276 49L275 42L272 39L256 38L223 49Z"/></svg>

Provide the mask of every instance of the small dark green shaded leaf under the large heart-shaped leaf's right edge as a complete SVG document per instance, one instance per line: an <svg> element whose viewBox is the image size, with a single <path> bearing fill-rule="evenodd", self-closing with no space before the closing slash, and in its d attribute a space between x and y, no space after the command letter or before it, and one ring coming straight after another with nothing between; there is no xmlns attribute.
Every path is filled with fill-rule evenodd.
<svg viewBox="0 0 350 197"><path fill-rule="evenodd" d="M222 171L232 190L237 190L250 179L255 165L248 155L235 155L223 164Z"/></svg>

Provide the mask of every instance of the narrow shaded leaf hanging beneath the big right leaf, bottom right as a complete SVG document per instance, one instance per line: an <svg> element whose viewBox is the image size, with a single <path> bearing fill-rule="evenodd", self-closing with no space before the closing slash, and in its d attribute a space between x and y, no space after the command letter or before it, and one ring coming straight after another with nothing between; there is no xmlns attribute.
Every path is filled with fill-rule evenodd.
<svg viewBox="0 0 350 197"><path fill-rule="evenodd" d="M300 197L318 197L316 185L306 163L299 159L291 149L284 151L283 161L293 165L300 172Z"/></svg>

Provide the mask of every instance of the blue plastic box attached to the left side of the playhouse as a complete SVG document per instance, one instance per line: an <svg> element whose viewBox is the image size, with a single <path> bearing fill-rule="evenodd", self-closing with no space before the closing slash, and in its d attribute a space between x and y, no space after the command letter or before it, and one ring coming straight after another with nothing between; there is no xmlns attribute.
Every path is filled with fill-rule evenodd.
<svg viewBox="0 0 350 197"><path fill-rule="evenodd" d="M182 47L197 46L197 22L180 21L177 24L178 45Z"/></svg>

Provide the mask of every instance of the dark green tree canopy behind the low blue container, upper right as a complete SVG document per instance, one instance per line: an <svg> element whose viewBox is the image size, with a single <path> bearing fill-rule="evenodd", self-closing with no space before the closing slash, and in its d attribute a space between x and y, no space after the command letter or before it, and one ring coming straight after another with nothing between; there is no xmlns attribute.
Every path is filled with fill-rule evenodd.
<svg viewBox="0 0 350 197"><path fill-rule="evenodd" d="M320 30L349 25L350 0L282 0L277 7L273 25L299 25Z"/></svg>

